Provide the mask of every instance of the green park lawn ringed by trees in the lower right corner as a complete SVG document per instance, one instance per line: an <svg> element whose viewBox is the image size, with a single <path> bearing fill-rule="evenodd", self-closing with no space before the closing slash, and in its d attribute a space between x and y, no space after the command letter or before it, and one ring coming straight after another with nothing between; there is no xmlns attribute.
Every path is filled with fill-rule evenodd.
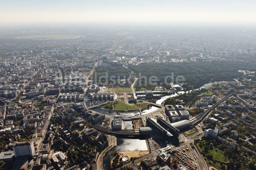
<svg viewBox="0 0 256 170"><path fill-rule="evenodd" d="M228 157L224 155L224 153L214 148L212 143L210 145L206 145L204 142L200 141L199 143L197 143L197 145L200 148L201 152L204 152L207 157L222 162L227 162L229 160Z"/></svg>

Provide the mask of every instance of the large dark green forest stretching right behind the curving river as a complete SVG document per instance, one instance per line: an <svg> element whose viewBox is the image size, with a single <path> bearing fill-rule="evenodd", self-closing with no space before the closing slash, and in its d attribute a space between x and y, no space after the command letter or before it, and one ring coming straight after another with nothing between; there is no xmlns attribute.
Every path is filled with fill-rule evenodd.
<svg viewBox="0 0 256 170"><path fill-rule="evenodd" d="M129 67L135 74L141 73L143 76L157 76L160 84L164 83L166 76L174 73L177 76L185 77L187 90L197 89L210 81L233 81L243 73L238 70L256 70L254 62L235 62L235 61L206 61L206 62L187 62L187 63L143 63ZM175 83L175 80L174 80ZM164 84L163 84L164 85Z"/></svg>

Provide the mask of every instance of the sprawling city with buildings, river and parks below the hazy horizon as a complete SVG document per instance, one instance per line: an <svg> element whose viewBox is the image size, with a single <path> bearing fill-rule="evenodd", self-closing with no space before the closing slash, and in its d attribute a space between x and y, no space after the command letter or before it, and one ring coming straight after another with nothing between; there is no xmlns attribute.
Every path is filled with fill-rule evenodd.
<svg viewBox="0 0 256 170"><path fill-rule="evenodd" d="M0 26L0 168L256 169L255 39L242 26Z"/></svg>

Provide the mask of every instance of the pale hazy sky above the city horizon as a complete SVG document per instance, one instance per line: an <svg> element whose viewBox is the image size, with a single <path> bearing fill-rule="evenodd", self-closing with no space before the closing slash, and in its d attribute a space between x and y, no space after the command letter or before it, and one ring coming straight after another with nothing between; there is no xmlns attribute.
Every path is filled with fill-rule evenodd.
<svg viewBox="0 0 256 170"><path fill-rule="evenodd" d="M9 0L0 24L255 24L252 0Z"/></svg>

